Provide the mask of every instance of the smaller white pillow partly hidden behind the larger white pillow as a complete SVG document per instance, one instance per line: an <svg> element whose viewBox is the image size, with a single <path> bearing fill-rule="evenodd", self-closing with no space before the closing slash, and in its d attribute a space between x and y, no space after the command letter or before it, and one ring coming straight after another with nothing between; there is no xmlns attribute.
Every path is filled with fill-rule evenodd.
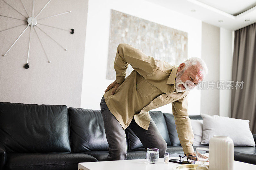
<svg viewBox="0 0 256 170"><path fill-rule="evenodd" d="M190 122L194 133L193 146L202 146L203 120L190 119Z"/></svg>

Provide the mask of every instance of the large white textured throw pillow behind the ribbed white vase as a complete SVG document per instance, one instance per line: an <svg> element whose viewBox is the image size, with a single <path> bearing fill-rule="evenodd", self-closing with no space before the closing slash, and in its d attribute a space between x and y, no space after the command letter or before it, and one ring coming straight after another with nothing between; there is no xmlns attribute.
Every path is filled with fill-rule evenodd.
<svg viewBox="0 0 256 170"><path fill-rule="evenodd" d="M234 146L255 146L252 132L249 127L249 120L234 119L218 115L204 115L203 137L201 144L209 144L214 136L229 136Z"/></svg>

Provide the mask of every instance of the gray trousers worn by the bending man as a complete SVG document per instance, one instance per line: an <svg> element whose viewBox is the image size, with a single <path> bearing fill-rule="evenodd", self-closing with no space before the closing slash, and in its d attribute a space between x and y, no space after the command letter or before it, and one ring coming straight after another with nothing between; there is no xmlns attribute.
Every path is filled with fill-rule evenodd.
<svg viewBox="0 0 256 170"><path fill-rule="evenodd" d="M104 95L100 101L101 114L104 121L105 133L108 141L107 160L125 160L127 158L127 145L125 132L116 117L110 112L105 102ZM167 150L167 144L158 131L155 122L150 120L148 130L141 128L134 118L128 126L137 137L139 137L144 148L158 148L159 158L164 157Z"/></svg>

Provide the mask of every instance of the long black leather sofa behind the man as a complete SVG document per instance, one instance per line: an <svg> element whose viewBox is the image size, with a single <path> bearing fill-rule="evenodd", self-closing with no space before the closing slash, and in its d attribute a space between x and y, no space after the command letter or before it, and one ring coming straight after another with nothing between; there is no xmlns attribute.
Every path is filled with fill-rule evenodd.
<svg viewBox="0 0 256 170"><path fill-rule="evenodd" d="M183 154L173 115L149 113L168 145L167 152ZM138 137L129 128L125 133L127 159L145 159L146 149ZM256 164L255 147L234 150L235 160ZM77 170L79 162L106 161L107 156L100 110L0 102L0 169Z"/></svg>

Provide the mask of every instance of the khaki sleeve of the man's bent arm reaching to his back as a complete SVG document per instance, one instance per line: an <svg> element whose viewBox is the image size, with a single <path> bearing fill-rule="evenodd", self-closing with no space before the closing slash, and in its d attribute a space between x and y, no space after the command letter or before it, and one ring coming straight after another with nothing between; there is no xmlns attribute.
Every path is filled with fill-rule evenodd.
<svg viewBox="0 0 256 170"><path fill-rule="evenodd" d="M114 62L117 83L123 83L128 64L141 76L150 75L157 66L156 60L144 54L140 49L129 44L119 44Z"/></svg>

